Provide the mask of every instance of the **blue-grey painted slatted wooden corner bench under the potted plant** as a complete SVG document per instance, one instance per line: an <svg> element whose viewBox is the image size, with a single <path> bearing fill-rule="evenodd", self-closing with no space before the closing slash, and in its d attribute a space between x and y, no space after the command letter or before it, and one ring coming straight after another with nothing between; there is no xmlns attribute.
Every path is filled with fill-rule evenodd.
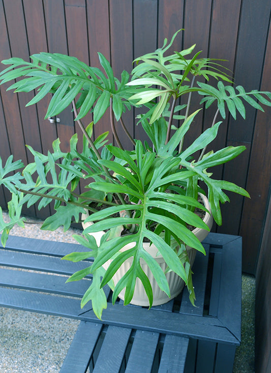
<svg viewBox="0 0 271 373"><path fill-rule="evenodd" d="M89 304L80 308L91 278L65 283L86 263L60 258L84 247L11 236L0 247L0 306L81 320L62 373L232 372L240 343L242 239L210 233L204 247L207 255L198 254L193 267L197 307L186 290L150 310L121 301L113 306L108 291L101 322Z"/></svg>

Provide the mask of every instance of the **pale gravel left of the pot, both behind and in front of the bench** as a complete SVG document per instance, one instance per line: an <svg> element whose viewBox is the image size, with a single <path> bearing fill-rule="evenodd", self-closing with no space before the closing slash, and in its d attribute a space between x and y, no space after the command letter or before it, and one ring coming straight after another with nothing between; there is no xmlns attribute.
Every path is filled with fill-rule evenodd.
<svg viewBox="0 0 271 373"><path fill-rule="evenodd" d="M39 226L14 227L12 235L74 243L72 235L81 232L73 228L64 232L62 227L41 231ZM77 320L0 307L0 373L59 372L78 324Z"/></svg>

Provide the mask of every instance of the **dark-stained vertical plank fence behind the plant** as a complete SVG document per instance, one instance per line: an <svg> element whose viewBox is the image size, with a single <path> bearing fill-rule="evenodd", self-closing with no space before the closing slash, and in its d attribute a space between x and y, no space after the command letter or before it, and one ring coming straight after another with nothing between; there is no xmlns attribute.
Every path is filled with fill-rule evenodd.
<svg viewBox="0 0 271 373"><path fill-rule="evenodd" d="M236 84L246 90L271 90L270 7L269 0L1 0L0 60L10 56L27 59L33 53L49 51L68 53L98 66L100 51L120 76L124 69L131 71L134 58L185 28L171 50L196 43L202 56L228 60L225 66L234 72ZM50 124L43 119L47 99L25 108L32 94L17 96L6 92L4 86L0 94L0 152L4 160L13 154L15 159L29 161L31 154L24 144L47 152L56 137L64 151L69 149L69 139L77 131L71 108L57 116L59 123ZM195 99L193 105L197 102ZM135 137L142 138L140 127L134 125L135 115L133 111L126 114L125 122ZM212 112L202 111L191 136L207 128L211 120ZM108 128L108 122L106 116L95 126L95 136ZM255 273L270 185L270 123L270 109L264 114L248 109L246 121L240 116L236 121L226 118L213 145L214 150L228 145L247 147L236 160L218 167L214 177L247 188L251 199L230 195L231 203L223 206L223 225L213 230L243 236L243 269L249 273ZM119 136L126 144L125 135L120 132ZM0 189L4 208L8 200ZM50 209L41 212L33 207L28 213L43 218Z"/></svg>

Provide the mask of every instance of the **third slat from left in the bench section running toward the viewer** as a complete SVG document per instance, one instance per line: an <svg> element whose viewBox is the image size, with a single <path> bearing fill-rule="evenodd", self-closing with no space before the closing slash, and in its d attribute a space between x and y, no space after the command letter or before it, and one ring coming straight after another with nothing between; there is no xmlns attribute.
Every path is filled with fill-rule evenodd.
<svg viewBox="0 0 271 373"><path fill-rule="evenodd" d="M125 373L150 373L158 340L158 333L137 330Z"/></svg>

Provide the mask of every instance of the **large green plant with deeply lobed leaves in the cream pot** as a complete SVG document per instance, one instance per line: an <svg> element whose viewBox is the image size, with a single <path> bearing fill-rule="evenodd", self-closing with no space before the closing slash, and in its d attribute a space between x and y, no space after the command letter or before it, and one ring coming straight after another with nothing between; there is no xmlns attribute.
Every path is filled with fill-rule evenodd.
<svg viewBox="0 0 271 373"><path fill-rule="evenodd" d="M220 65L221 60L201 58L200 52L194 54L195 45L167 54L176 34L171 42L165 40L162 48L136 59L132 73L124 71L121 80L114 76L101 53L101 69L58 53L34 54L31 62L20 58L2 61L9 65L0 73L2 84L11 81L9 90L15 92L36 90L27 105L36 104L47 94L52 94L45 118L56 116L72 105L74 120L83 132L80 151L77 134L74 134L68 153L61 151L56 139L53 151L46 155L27 147L34 156L33 163L24 166L19 160L13 161L12 156L5 165L0 163L0 184L12 193L8 204L10 221L5 223L2 215L0 217L2 243L5 245L15 224L23 226L23 205L29 207L38 203L41 209L54 200L55 212L41 226L50 231L60 225L67 230L73 221L78 222L81 214L88 211L85 222L94 224L85 228L82 236L75 236L88 250L71 253L65 259L80 261L94 257L91 266L76 272L69 280L93 275L81 305L92 301L99 318L107 306L103 290L106 284L114 288L113 303L119 292L126 289L124 304L128 304L133 297L136 278L139 278L149 305L152 305L152 286L141 268L140 259L148 265L160 289L170 296L164 271L143 248L146 240L156 245L167 270L183 278L194 303L186 245L202 253L204 248L188 225L207 229L194 211L197 207L205 209L198 202L198 192L202 192L198 182L206 186L210 208L219 225L222 223L220 203L229 201L224 190L249 196L247 191L231 182L213 179L210 172L211 167L232 160L245 147L229 146L207 153L205 150L218 134L222 123L217 122L219 113L225 119L227 108L234 119L236 112L245 118L244 102L262 110L261 104L271 106L271 94L246 92L240 85L233 88L228 71ZM217 86L214 87L209 79ZM209 128L184 148L184 138L201 109L190 112L192 95L202 97L201 107L208 109L210 105L216 105L217 111ZM138 126L149 138L144 143L133 138L123 121L123 113L133 107L142 108L137 119ZM108 132L93 139L93 126L99 125L108 108L108 132L113 134L114 145L107 144ZM81 120L89 113L92 113L93 122L84 127ZM178 126L173 125L173 120ZM119 131L127 134L133 150L124 149L117 135ZM83 180L81 185L86 185L81 193L77 188L80 180ZM98 246L90 234L105 229ZM172 241L177 245L171 247ZM130 249L120 251L131 243ZM130 269L114 284L112 276L129 257L133 259ZM112 260L111 264L105 270L103 265L109 260Z"/></svg>

